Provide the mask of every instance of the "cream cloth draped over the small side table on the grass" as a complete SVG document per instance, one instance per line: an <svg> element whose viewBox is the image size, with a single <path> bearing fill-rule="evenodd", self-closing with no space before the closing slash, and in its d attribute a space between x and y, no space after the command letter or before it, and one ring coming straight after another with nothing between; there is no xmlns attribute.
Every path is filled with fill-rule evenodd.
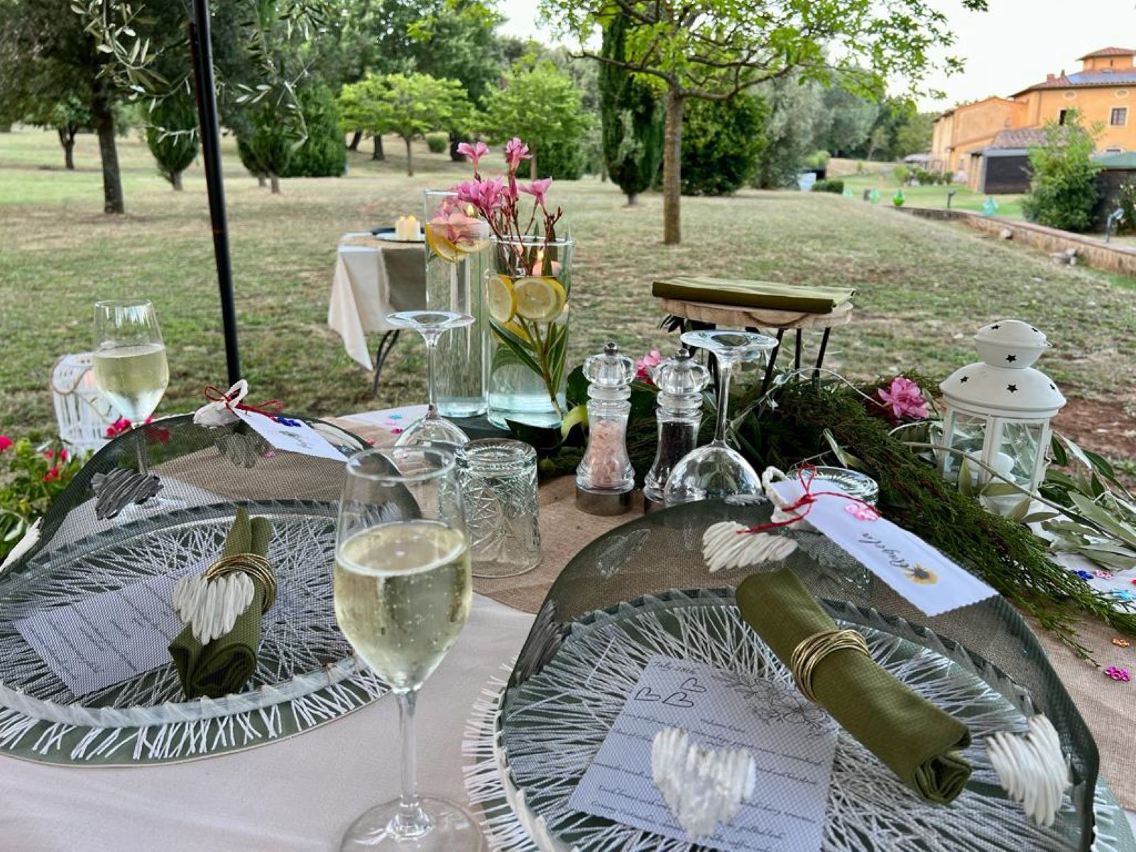
<svg viewBox="0 0 1136 852"><path fill-rule="evenodd" d="M370 234L343 235L343 240L349 237L370 237ZM348 354L367 369L373 366L367 332L392 331L394 326L386 321L392 311L426 307L425 272L424 277L414 281L393 278L383 262L383 254L389 251L423 256L418 245L392 244L387 249L341 242L335 257L327 325L343 337ZM421 262L425 266L425 258Z"/></svg>

